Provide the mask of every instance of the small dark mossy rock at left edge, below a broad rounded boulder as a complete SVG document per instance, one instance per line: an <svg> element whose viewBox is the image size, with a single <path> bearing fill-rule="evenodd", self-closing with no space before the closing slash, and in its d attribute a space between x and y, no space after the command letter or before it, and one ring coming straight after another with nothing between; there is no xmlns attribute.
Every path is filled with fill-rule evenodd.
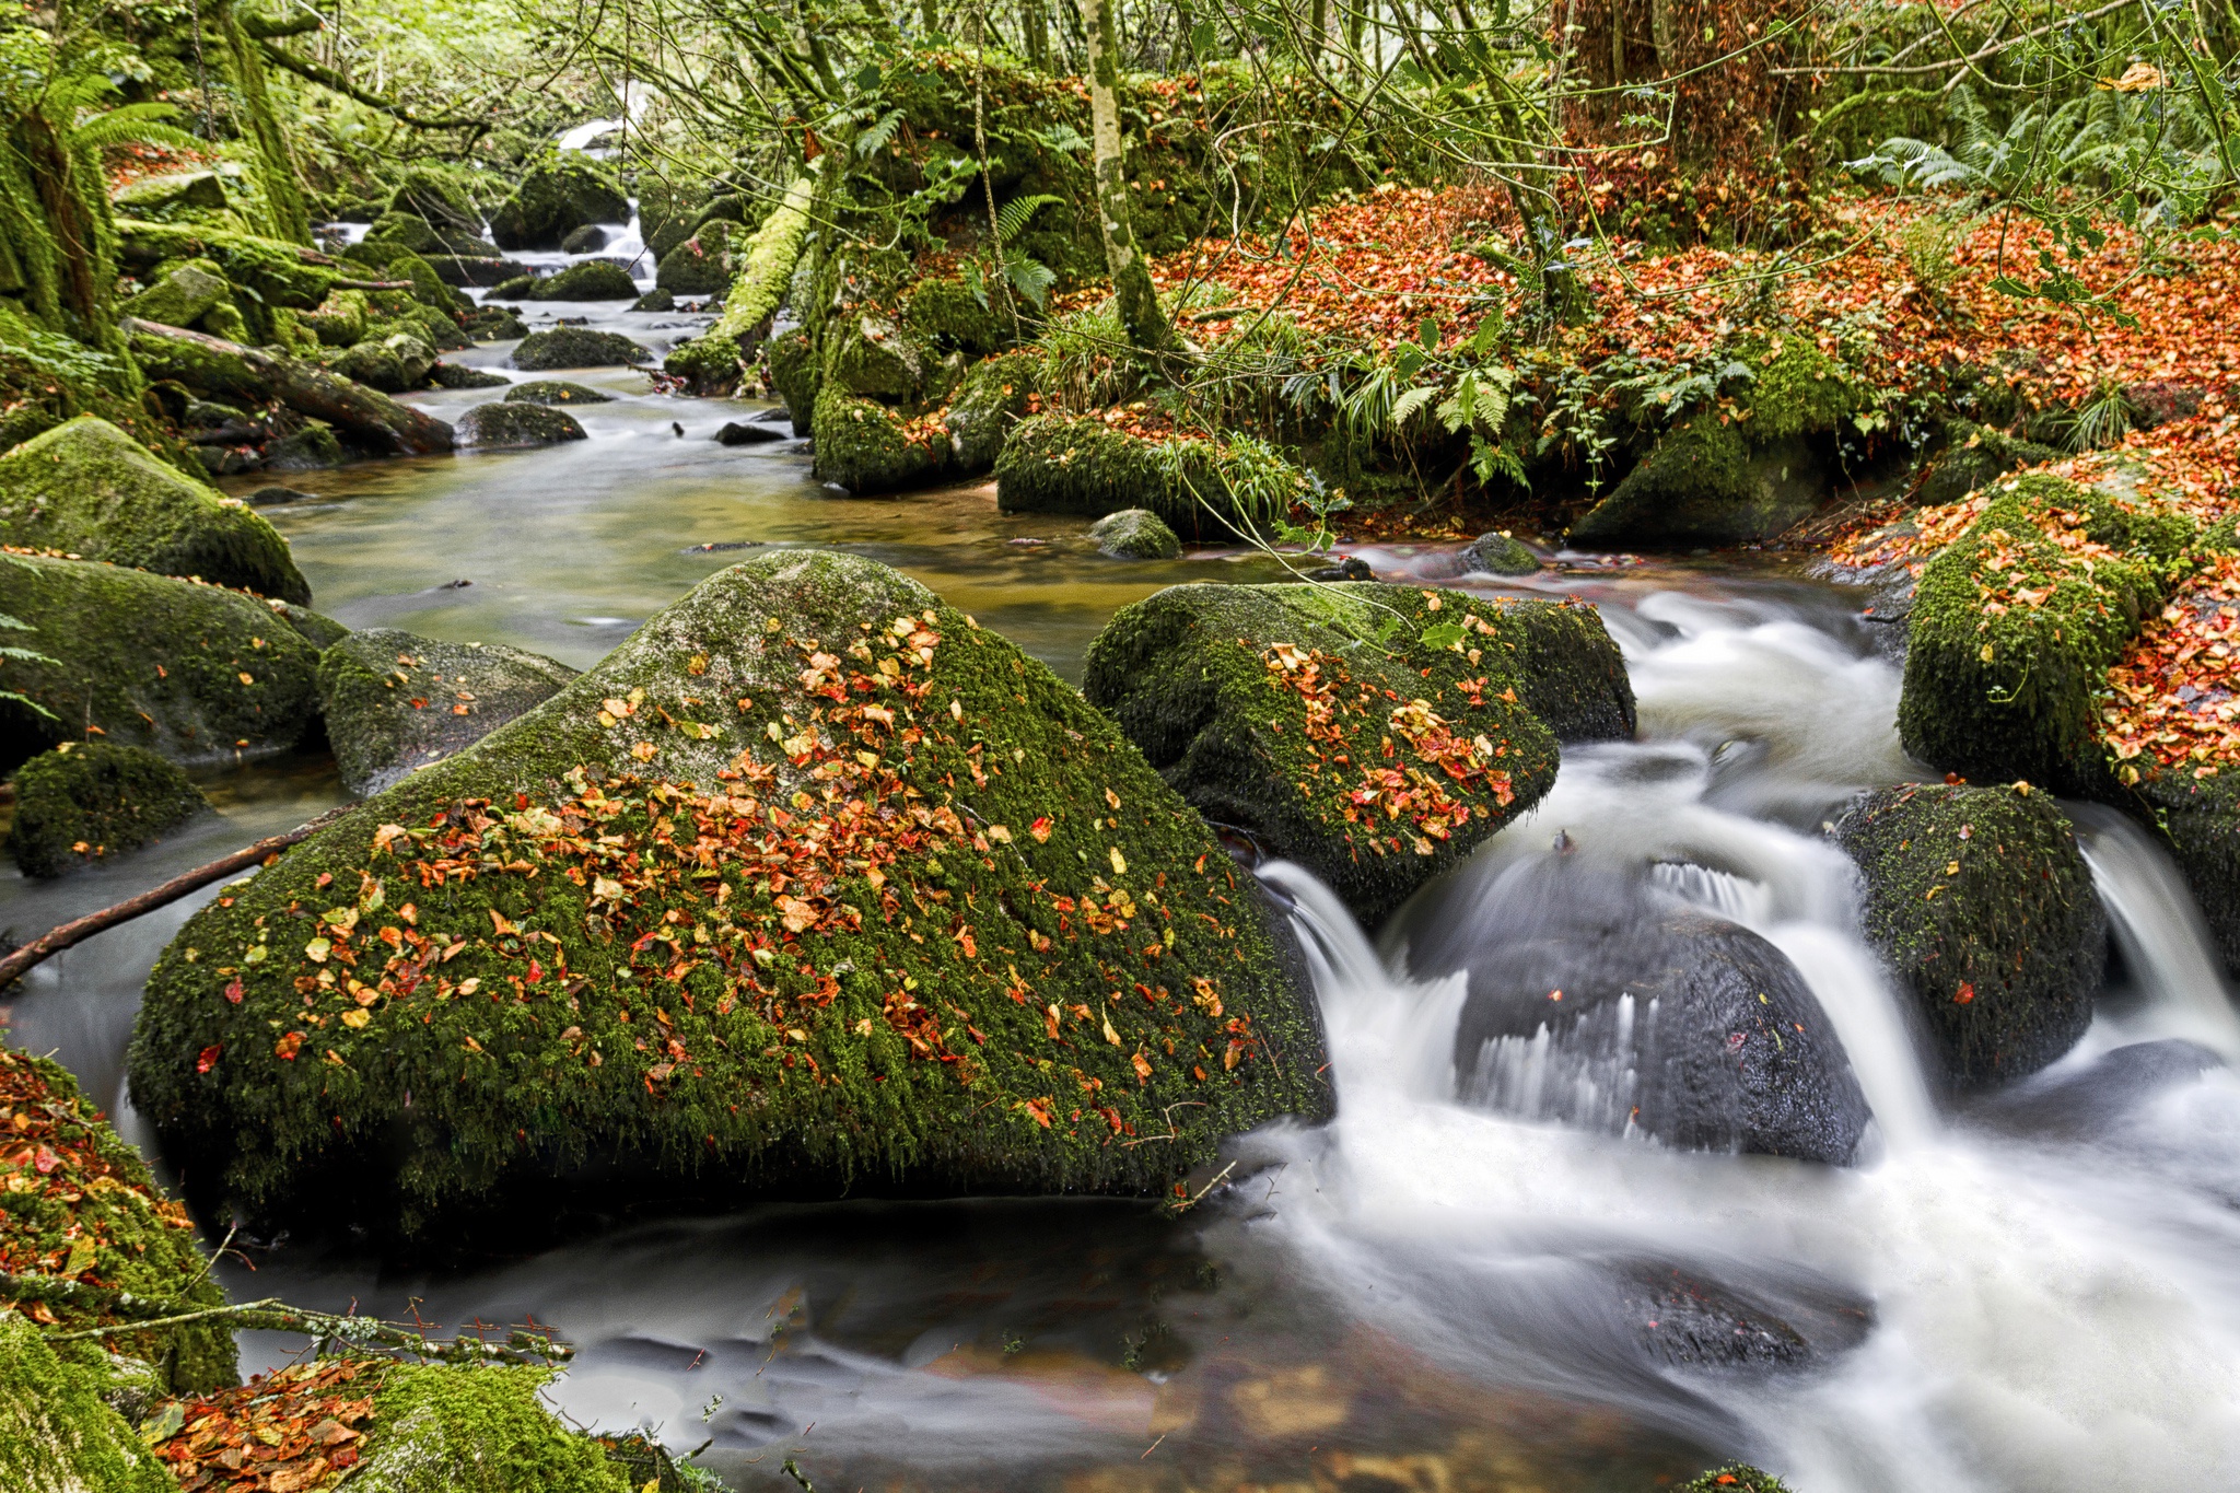
<svg viewBox="0 0 2240 1493"><path fill-rule="evenodd" d="M25 875L56 877L137 851L208 808L146 748L65 741L16 770L7 848Z"/></svg>

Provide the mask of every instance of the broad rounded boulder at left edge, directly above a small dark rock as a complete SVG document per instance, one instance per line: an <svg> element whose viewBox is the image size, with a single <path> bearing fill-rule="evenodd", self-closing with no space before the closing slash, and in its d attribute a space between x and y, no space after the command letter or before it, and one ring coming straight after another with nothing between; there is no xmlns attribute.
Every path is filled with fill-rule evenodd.
<svg viewBox="0 0 2240 1493"><path fill-rule="evenodd" d="M318 651L276 604L92 560L0 560L9 633L40 660L0 660L0 770L99 730L179 763L293 748L318 716Z"/></svg>

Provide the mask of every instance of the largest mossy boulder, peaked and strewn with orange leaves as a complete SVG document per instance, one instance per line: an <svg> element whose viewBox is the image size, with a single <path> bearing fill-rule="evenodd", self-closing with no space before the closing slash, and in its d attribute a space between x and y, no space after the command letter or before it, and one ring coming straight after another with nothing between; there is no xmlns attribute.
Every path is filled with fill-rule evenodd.
<svg viewBox="0 0 2240 1493"><path fill-rule="evenodd" d="M213 1204L423 1245L587 1186L1163 1191L1328 1110L1279 938L1048 669L795 551L206 907L132 1095Z"/></svg>

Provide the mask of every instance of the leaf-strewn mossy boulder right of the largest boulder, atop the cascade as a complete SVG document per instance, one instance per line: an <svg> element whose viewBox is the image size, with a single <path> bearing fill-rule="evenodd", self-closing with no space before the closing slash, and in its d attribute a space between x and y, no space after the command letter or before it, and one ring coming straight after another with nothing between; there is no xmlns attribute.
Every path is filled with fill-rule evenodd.
<svg viewBox="0 0 2240 1493"><path fill-rule="evenodd" d="M1082 689L1198 813L1373 927L1555 781L1557 734L1525 703L1534 609L1557 611L1375 582L1172 586L1098 633ZM1602 620L1572 611L1631 714Z"/></svg>

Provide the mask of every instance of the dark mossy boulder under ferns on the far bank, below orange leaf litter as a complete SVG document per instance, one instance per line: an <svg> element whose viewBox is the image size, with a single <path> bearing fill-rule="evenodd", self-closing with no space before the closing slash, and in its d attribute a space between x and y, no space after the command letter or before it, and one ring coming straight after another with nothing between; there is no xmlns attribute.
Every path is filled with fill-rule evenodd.
<svg viewBox="0 0 2240 1493"><path fill-rule="evenodd" d="M1754 445L1716 410L1673 425L1606 499L1570 526L1586 548L1747 544L1799 524L1828 497L1805 436Z"/></svg>

